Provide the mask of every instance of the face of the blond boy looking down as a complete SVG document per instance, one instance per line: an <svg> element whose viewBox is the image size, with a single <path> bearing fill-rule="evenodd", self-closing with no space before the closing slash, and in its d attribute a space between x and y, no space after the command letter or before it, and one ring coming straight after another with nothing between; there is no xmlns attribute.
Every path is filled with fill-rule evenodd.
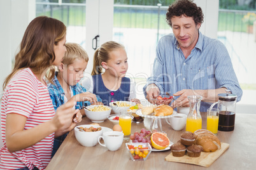
<svg viewBox="0 0 256 170"><path fill-rule="evenodd" d="M75 59L70 65L63 65L64 82L70 86L75 86L83 78L83 72L87 67L87 63L81 58Z"/></svg>

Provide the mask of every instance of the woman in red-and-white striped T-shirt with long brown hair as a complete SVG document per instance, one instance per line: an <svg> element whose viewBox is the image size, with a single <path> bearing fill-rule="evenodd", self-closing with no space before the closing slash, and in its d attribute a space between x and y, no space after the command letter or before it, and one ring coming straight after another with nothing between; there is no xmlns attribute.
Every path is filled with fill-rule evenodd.
<svg viewBox="0 0 256 170"><path fill-rule="evenodd" d="M82 120L73 108L76 101L96 101L81 93L54 111L43 77L51 65L60 65L65 42L64 23L47 16L34 18L25 30L14 69L3 84L0 169L45 169L54 137ZM52 79L54 74L49 75Z"/></svg>

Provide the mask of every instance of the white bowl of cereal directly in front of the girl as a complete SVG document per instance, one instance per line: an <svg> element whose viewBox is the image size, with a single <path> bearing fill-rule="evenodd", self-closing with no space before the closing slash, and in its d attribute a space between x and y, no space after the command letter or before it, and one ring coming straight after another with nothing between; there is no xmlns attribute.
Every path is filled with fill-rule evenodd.
<svg viewBox="0 0 256 170"><path fill-rule="evenodd" d="M132 101L112 101L110 107L113 114L120 114L121 111L127 111L130 107L135 106L136 103Z"/></svg>

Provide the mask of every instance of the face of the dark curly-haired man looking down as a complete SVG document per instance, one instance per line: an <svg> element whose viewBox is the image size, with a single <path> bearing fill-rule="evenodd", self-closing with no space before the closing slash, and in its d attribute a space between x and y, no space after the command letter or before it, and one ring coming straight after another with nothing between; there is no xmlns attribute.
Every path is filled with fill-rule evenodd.
<svg viewBox="0 0 256 170"><path fill-rule="evenodd" d="M180 48L192 50L196 46L201 23L196 25L192 17L184 15L174 16L171 18L171 23L173 34L179 42Z"/></svg>

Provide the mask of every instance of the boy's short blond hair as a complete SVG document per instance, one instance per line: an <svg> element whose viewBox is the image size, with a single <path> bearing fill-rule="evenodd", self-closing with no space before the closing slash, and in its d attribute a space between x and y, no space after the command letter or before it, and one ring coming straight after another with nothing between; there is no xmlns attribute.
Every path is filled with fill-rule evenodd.
<svg viewBox="0 0 256 170"><path fill-rule="evenodd" d="M85 49L80 46L80 44L67 42L66 43L66 53L62 60L62 63L65 65L70 65L74 62L75 59L83 59L85 62L89 61L89 56Z"/></svg>

